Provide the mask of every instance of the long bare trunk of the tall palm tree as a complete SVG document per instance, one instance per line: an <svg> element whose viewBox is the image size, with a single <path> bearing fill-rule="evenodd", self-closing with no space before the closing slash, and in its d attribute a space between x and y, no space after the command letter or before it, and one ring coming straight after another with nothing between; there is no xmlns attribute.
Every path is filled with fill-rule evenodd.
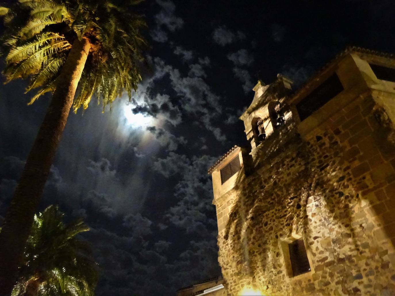
<svg viewBox="0 0 395 296"><path fill-rule="evenodd" d="M74 41L5 216L0 232L1 296L9 296L15 285L34 213L66 125L89 49L88 39Z"/></svg>

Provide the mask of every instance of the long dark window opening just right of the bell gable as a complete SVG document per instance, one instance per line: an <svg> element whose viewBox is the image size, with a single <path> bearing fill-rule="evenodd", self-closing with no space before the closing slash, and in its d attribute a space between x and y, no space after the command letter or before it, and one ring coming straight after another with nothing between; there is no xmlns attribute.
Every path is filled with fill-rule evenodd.
<svg viewBox="0 0 395 296"><path fill-rule="evenodd" d="M339 77L334 73L331 77L325 80L320 86L311 92L302 101L296 104L297 112L300 120L305 120L308 116L316 112L322 106L337 96L344 90Z"/></svg>

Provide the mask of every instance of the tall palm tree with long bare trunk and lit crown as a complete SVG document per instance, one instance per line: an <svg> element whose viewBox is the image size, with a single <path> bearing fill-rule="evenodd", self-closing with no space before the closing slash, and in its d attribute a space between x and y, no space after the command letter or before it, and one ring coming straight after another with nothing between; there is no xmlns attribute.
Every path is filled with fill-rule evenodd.
<svg viewBox="0 0 395 296"><path fill-rule="evenodd" d="M103 106L141 80L137 63L144 22L141 0L19 0L0 7L6 82L29 78L32 97L53 92L0 233L0 295L10 295L71 106L86 109L95 94ZM103 107L104 108L104 107ZM4 268L7 266L7 268Z"/></svg>

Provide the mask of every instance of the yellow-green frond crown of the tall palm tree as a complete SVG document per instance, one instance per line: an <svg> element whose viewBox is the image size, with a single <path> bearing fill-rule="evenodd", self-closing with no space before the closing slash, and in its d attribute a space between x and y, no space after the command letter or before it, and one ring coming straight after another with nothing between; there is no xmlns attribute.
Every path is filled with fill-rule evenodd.
<svg viewBox="0 0 395 296"><path fill-rule="evenodd" d="M141 0L128 1L130 5ZM137 63L139 48L145 44L139 29L145 25L128 6L109 0L19 0L10 9L0 7L6 31L6 82L30 78L26 92L39 88L33 103L46 92L53 92L68 53L76 38L88 38L91 47L73 110L88 107L96 93L103 106L124 91L132 96L141 80Z"/></svg>

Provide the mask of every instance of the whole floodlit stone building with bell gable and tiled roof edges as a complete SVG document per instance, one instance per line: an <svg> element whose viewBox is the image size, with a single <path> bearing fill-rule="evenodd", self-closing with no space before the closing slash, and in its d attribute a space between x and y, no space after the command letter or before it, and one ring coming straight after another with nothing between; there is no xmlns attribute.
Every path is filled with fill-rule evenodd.
<svg viewBox="0 0 395 296"><path fill-rule="evenodd" d="M228 295L395 295L395 57L350 48L254 87L209 169Z"/></svg>

